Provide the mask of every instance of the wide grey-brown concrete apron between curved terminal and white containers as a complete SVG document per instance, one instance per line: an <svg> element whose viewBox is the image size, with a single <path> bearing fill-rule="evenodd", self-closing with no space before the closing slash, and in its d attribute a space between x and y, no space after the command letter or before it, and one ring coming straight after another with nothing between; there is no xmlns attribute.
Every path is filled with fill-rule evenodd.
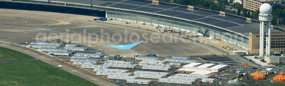
<svg viewBox="0 0 285 86"><path fill-rule="evenodd" d="M75 43L95 50L104 50L109 55L132 56L133 54L154 53L160 57L170 57L173 55L222 54L221 51L205 44L172 35L88 21L93 20L93 16L11 9L0 9L0 11L2 12L0 14L0 40L12 43L60 38L74 40ZM129 34L127 38L124 35L125 31ZM85 32L86 35L84 35ZM121 34L123 37L116 34ZM143 43L132 49L119 50L106 46L132 44L142 40Z"/></svg>

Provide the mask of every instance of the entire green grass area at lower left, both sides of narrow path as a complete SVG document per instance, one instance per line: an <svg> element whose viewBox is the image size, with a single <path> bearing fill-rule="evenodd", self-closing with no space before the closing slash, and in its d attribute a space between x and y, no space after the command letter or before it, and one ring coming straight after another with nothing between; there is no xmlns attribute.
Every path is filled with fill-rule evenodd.
<svg viewBox="0 0 285 86"><path fill-rule="evenodd" d="M7 48L1 48L2 57L33 58ZM13 51L9 52L8 51ZM4 52L4 53L3 53ZM6 53L5 53L6 52ZM11 56L10 56L11 55ZM7 60L7 59L6 59ZM95 77L95 76L94 76ZM0 63L0 86L98 86L83 78L39 60Z"/></svg>

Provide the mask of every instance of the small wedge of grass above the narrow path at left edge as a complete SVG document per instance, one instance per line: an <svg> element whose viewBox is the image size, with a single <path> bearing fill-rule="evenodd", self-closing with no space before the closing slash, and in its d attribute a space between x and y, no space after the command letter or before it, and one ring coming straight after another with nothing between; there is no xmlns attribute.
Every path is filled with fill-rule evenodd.
<svg viewBox="0 0 285 86"><path fill-rule="evenodd" d="M19 60L19 59L32 59L33 57L21 53L12 49L0 47L0 61L8 61L8 60Z"/></svg>

